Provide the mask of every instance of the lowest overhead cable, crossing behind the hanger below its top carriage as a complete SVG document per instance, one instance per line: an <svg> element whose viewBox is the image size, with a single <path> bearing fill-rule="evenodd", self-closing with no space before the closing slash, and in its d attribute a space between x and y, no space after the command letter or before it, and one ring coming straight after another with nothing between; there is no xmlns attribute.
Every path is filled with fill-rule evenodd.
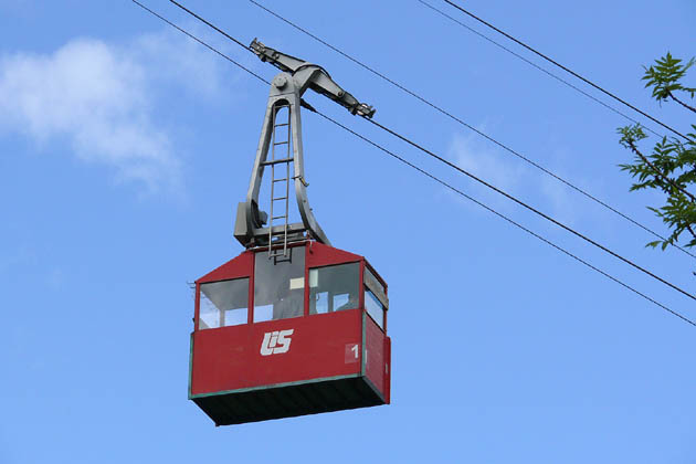
<svg viewBox="0 0 696 464"><path fill-rule="evenodd" d="M168 24L170 24L171 27L176 28L177 30L179 30L179 31L181 31L181 32L186 33L188 36L190 36L190 38L194 38L194 36L193 36L192 34L190 34L189 32L186 32L183 29L181 29L181 28L179 28L178 25L173 24L172 22L168 21L167 19L165 19L165 18L164 18L164 17L161 17L160 14L158 14L158 13L154 12L154 11L152 11L152 10L150 10L149 8L145 7L143 3L138 2L137 0L131 0L131 1L133 1L134 3L136 3L137 6L141 7L143 9L145 9L146 11L150 12L151 14L156 15L156 17L157 17L157 18L159 18L160 20L162 20L162 21L167 22ZM213 50L215 53L218 53L219 55L223 56L224 59L226 59L226 60L228 60L228 61L230 61L231 63L235 64L235 65L236 65L236 66L239 66L240 68L242 68L242 70L246 71L246 72L247 72L247 73L250 73L250 74L252 74L252 75L253 75L253 76L255 76L256 78L259 78L259 80L263 81L264 83L267 83L267 81L266 81L266 80L264 80L263 77L261 77L261 76L259 76L257 74L253 73L252 71L250 71L250 70L249 70L249 68L246 68L245 66L241 65L241 64L240 64L240 63L238 63L236 61L234 61L234 60L230 59L229 56L226 56L226 55L225 55L225 54L223 54L222 52L220 52L220 51L215 50L214 48L212 48L212 46L211 46L211 45L209 45L208 43L205 43L205 42L201 41L201 40L200 40L200 39L198 39L198 38L194 38L194 40L196 40L197 42L201 43L202 45L204 45L205 48ZM653 299L652 297L650 297L650 296L645 295L644 293L642 293L642 292L640 292L640 291L635 289L634 287L632 287L632 286L630 286L630 285L625 284L624 282L620 281L619 278L616 278L616 277L614 277L614 276L612 276L612 275L610 275L610 274L605 273L604 271L602 271L602 270L600 270L600 268L598 268L598 267L593 266L592 264L588 263L587 261L583 261L582 259L580 259L580 257L576 256L574 254L572 254L572 253L568 252L567 250L562 249L561 246L559 246L559 245L555 244L555 243L553 243L553 242L551 242L550 240L547 240L547 239L545 239L544 236L541 236L541 235L539 235L539 234L537 234L537 233L535 233L535 232L530 231L529 229L525 228L524 225L521 225L521 224L519 224L519 223L517 223L517 222L513 221L512 219L509 219L509 218L505 217L504 214L502 214L502 213L499 213L499 212L495 211L493 208L487 207L487 205L486 205L486 204L484 204L483 202L479 202L478 200L475 200L473 197L467 196L466 193L464 193L464 192L460 191L458 189L455 189L455 188L454 188L454 187L452 187L451 184L449 184L449 183L446 183L445 181L443 181L443 180L439 179L437 177L435 177L435 176L433 176L433 175L429 173L429 172L428 172L428 171L425 171L424 169L421 169L421 168L416 167L415 165L413 165L413 164L411 164L411 162L407 161L405 159L403 159L403 158L399 157L398 155L396 155L396 154L391 152L390 150L388 150L388 149L383 148L382 146L378 145L377 143L375 143L375 141L372 141L372 140L368 139L367 137L365 137L365 136L362 136L362 135L360 135L360 134L358 134L358 133L356 133L356 131L354 131L354 130L349 129L348 127L346 127L346 126L344 126L342 124L340 124L340 123L338 123L338 122L336 122L336 120L331 119L330 117L328 117L328 116L324 115L323 113L319 113L319 112L318 112L318 110L316 110L316 109L314 110L314 113L317 113L319 116L321 116L321 117L324 117L325 119L327 119L327 120L329 120L329 122L331 122L331 123L336 124L337 126L341 127L344 130L347 130L348 133L350 133L350 134L352 134L354 136L356 136L356 137L358 137L358 138L362 139L363 141L367 141L367 143L369 143L370 145L372 145L372 146L375 146L375 147L379 148L380 150L382 150L382 151L387 152L388 155L390 155L390 156L392 156L392 157L397 158L399 161L404 162L405 165L410 166L411 168L416 169L419 172L421 172L421 173L423 173L423 175L428 176L429 178L431 178L431 179L433 179L433 180L437 181L439 183L441 183L441 184L443 184L443 186L447 187L449 189L451 189L451 190L453 190L453 191L457 192L458 194L461 194L461 196L463 196L463 197L467 198L468 200L471 200L471 201L475 202L476 204L478 204L478 205L481 205L481 207L485 208L486 210L488 210L488 211L493 212L494 214L496 214L496 215L498 215L498 217L500 217L500 218L505 219L505 220L506 220L506 221L508 221L509 223L512 223L512 224L516 225L517 228L519 228L519 229L524 230L525 232L527 232L527 233L529 233L529 234L534 235L535 238L537 238L537 239L539 239L539 240L544 241L544 242L545 242L545 243L547 243L548 245L550 245L550 246L555 247L556 250L558 250L558 251L560 251L560 252L565 253L566 255L568 255L568 256L570 256L570 257L574 259L576 261L578 261L578 262L580 262L580 263L584 264L586 266L588 266L588 267L590 267L591 270L593 270L593 271L598 272L599 274L603 275L604 277L610 278L611 281L613 281L613 282L618 283L619 285L623 286L624 288L626 288L626 289L629 289L629 291L631 291L631 292L635 293L636 295L641 296L642 298L644 298L644 299L646 299L646 300L648 300L648 302L653 303L654 305L658 306L660 308L662 308L662 309L664 309L664 310L668 312L669 314L672 314L672 315L674 315L674 316L678 317L679 319L682 319L682 320L686 321L687 324L690 324L692 326L696 327L696 321L694 321L694 320L692 320L692 319L687 318L686 316L684 316L684 315L682 315L682 314L677 313L677 312L676 312L676 310L674 310L674 309L671 309L669 307L667 307L667 306L663 305L662 303L660 303L660 302L657 302L657 300ZM368 119L368 120L369 120L369 119Z"/></svg>

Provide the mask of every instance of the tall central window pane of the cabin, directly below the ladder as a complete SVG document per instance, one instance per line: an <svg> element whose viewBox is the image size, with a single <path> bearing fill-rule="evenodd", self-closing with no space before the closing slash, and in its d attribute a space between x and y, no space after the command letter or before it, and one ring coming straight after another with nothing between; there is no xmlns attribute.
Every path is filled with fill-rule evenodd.
<svg viewBox="0 0 696 464"><path fill-rule="evenodd" d="M254 260L254 323L303 316L305 247L291 247L277 257L261 252Z"/></svg>

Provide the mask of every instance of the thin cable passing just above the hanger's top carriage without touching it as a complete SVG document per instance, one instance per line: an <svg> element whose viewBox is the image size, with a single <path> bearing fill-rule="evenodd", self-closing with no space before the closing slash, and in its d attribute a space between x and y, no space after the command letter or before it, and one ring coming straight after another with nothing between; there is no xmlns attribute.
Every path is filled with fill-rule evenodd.
<svg viewBox="0 0 696 464"><path fill-rule="evenodd" d="M179 3L177 3L175 0L170 0L172 3L179 6ZM594 201L595 203L607 208L608 210L612 211L613 213L620 215L621 218L625 219L626 221L631 222L632 224L643 229L644 231L648 232L650 234L652 234L653 236L658 238L660 240L662 240L663 242L667 242L667 239L665 236L663 236L662 234L653 231L652 229L650 229L648 226L640 223L639 221L632 219L631 217L629 217L628 214L619 211L616 208L612 207L611 204L607 203L603 200L600 200L599 198L594 197L593 194L589 193L588 191L581 189L580 187L577 187L576 184L571 183L570 181L561 178L560 176L558 176L557 173L552 172L551 170L545 168L544 166L539 165L538 162L527 158L526 156L524 156L523 154L520 154L519 151L508 147L507 145L503 144L502 141L496 140L495 138L493 138L492 136L483 133L482 130L475 128L474 126L472 126L471 124L464 122L463 119L461 119L460 117L455 116L454 114L447 112L446 109L435 105L434 103L430 102L429 99L426 99L425 97L422 97L421 95L416 94L415 92L404 87L403 85L399 84L398 82L391 80L390 77L388 77L387 75L380 73L379 71L375 70L373 67L362 63L361 61L359 61L358 59L347 54L346 52L344 52L342 50L331 45L330 43L326 42L325 40L320 39L319 36L313 34L312 32L307 31L306 29L302 28L300 25L289 21L288 19L282 17L281 14L276 13L273 10L270 10L268 8L264 7L263 4L259 3L255 0L249 0L251 3L255 4L256 7L261 8L262 10L265 10L266 12L268 12L270 14L274 15L275 18L280 19L281 21L285 22L286 24L295 28L296 30L300 31L302 33L306 34L307 36L314 39L315 41L321 43L323 45L329 48L330 50L335 51L336 53L345 56L346 59L350 60L351 62L356 63L357 65L363 67L365 70L369 71L370 73L377 75L378 77L384 80L386 82L390 83L391 85L396 86L397 88L405 92L407 94L409 94L410 96L419 99L420 102L424 103L425 105L430 106L431 108L435 109L436 112L447 116L449 118L453 119L454 122L461 124L462 126L473 130L474 133L478 134L479 136L484 137L485 139L487 139L488 141L497 145L499 148L503 148L505 151L520 158L521 160L524 160L525 162L534 166L535 168L539 169L540 171L545 172L546 175L555 178L556 180L560 181L561 183L566 184L567 187L576 190L577 192L583 194L584 197L589 198L590 200ZM184 9L183 7L179 6L180 8ZM189 11L189 10L186 10ZM200 18L194 13L193 14L196 18ZM204 20L202 20L204 21ZM215 29L217 31L220 31L221 33L225 34L224 32L222 32L219 28L210 24L208 21L204 21L207 24L209 24L211 28ZM226 34L225 34L226 36ZM244 45L242 45L244 46ZM571 85L571 84L569 84ZM582 91L580 91L582 92ZM591 98L593 98L592 96L590 96ZM601 103L601 102L600 102ZM628 116L626 116L628 117ZM679 246L676 243L669 243L672 246L674 246L677 250L681 250L683 253L696 259L696 255L694 255L693 253L690 253L689 251L683 249L682 246Z"/></svg>

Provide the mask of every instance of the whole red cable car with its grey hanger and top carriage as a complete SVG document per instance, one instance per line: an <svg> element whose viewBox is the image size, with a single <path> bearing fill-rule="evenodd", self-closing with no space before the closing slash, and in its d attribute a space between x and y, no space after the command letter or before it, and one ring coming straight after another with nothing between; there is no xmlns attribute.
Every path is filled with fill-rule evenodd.
<svg viewBox="0 0 696 464"><path fill-rule="evenodd" d="M375 109L320 66L256 40L251 49L281 73L236 211L234 236L246 250L196 281L189 399L217 425L388 404L388 286L365 257L331 246L318 225L299 117L300 106L313 109L302 99L307 88L352 114ZM262 186L270 213L260 208ZM292 197L302 222L289 222Z"/></svg>

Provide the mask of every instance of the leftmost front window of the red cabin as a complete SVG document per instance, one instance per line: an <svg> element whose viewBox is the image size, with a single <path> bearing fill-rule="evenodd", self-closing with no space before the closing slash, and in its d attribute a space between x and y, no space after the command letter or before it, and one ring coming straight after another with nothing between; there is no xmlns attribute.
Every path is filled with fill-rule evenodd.
<svg viewBox="0 0 696 464"><path fill-rule="evenodd" d="M199 330L246 324L249 278L210 282L200 289Z"/></svg>

